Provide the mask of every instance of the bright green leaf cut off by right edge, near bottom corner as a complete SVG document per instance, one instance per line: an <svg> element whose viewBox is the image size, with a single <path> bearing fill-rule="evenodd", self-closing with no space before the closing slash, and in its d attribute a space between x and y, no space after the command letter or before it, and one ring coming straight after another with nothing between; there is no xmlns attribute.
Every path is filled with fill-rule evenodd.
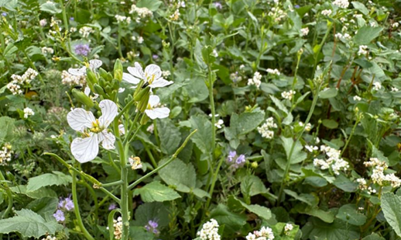
<svg viewBox="0 0 401 240"><path fill-rule="evenodd" d="M394 193L385 193L381 198L381 207L391 228L401 237L401 197Z"/></svg>

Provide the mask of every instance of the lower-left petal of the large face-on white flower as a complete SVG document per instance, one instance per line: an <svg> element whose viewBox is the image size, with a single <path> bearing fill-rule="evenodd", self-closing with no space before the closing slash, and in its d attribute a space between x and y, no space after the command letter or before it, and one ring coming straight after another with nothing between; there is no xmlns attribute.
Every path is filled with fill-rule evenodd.
<svg viewBox="0 0 401 240"><path fill-rule="evenodd" d="M71 143L71 153L80 163L86 163L95 159L99 153L97 134L92 134L85 139L74 139Z"/></svg>

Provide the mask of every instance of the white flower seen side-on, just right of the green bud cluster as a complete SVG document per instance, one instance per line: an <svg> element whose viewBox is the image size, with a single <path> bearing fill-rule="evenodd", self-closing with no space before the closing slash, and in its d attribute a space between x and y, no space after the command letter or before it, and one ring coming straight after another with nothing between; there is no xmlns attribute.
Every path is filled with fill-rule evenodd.
<svg viewBox="0 0 401 240"><path fill-rule="evenodd" d="M138 84L141 80L149 84L151 88L161 88L163 86L169 86L173 84L172 81L167 81L162 78L162 71L156 64L150 64L143 71L141 64L138 62L134 63L135 67L128 67L129 73L123 73L123 80L130 84ZM136 86L134 86L135 88Z"/></svg>

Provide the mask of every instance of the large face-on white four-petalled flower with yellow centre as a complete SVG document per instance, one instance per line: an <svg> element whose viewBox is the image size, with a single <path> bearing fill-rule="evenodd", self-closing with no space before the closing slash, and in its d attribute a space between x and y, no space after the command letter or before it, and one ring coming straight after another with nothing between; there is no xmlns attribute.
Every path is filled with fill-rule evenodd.
<svg viewBox="0 0 401 240"><path fill-rule="evenodd" d="M99 103L101 117L95 119L92 112L75 108L67 115L67 121L73 130L85 136L76 138L71 143L71 153L80 163L93 160L99 152L99 143L105 149L114 149L115 136L107 128L117 116L117 105L108 99Z"/></svg>

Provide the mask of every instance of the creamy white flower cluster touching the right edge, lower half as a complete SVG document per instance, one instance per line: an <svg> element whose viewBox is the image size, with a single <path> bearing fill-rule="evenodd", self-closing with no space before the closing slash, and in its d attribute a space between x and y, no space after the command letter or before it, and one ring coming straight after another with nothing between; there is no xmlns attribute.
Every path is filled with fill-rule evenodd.
<svg viewBox="0 0 401 240"><path fill-rule="evenodd" d="M382 186L387 183L391 187L400 187L401 179L394 173L385 174L385 170L389 167L387 163L379 160L378 158L370 158L369 161L363 163L365 167L372 167L372 181Z"/></svg>

